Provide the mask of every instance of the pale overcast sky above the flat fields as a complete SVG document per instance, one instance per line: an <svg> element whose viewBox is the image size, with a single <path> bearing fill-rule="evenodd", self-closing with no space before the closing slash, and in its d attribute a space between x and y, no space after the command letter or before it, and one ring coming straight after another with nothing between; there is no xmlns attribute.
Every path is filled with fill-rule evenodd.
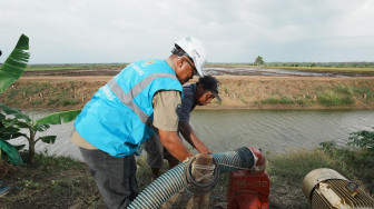
<svg viewBox="0 0 374 209"><path fill-rule="evenodd" d="M30 63L163 59L187 36L208 62L374 61L374 1L1 0L0 62L21 33Z"/></svg>

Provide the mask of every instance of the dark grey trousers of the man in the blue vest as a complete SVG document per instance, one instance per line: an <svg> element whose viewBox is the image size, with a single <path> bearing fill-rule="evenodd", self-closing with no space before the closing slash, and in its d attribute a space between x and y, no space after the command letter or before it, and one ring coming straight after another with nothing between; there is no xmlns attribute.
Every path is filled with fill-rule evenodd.
<svg viewBox="0 0 374 209"><path fill-rule="evenodd" d="M112 157L101 150L79 148L107 208L126 208L138 195L134 156Z"/></svg>

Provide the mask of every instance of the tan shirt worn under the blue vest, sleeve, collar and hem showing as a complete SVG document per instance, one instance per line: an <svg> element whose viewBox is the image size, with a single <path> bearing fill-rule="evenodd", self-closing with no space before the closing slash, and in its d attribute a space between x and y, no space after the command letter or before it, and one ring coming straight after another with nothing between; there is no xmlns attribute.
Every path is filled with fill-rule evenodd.
<svg viewBox="0 0 374 209"><path fill-rule="evenodd" d="M171 60L168 58L167 63L175 70ZM176 108L180 106L181 97L179 91L158 91L152 98L154 106L154 127L166 130L178 130L178 115ZM95 146L85 140L77 130L71 133L71 141L85 149L97 149Z"/></svg>

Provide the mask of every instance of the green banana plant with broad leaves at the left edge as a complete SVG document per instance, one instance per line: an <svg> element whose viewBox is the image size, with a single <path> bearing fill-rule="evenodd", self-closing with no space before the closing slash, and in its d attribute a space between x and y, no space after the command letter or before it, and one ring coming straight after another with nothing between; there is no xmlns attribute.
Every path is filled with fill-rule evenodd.
<svg viewBox="0 0 374 209"><path fill-rule="evenodd" d="M29 38L21 34L16 48L0 68L0 93L4 92L9 86L22 76L30 57L30 53L26 51L28 49ZM50 125L61 125L62 122L72 121L79 112L80 110L57 112L35 121L21 110L0 103L0 150L8 155L11 163L22 163L22 159L17 150L23 148L26 145L12 146L7 140L24 137L29 142L28 161L32 162L37 142L55 143L56 141L56 136L37 138L37 132L46 131ZM10 117L7 118L7 116ZM29 135L20 132L21 129L28 129ZM0 153L2 155L2 152Z"/></svg>

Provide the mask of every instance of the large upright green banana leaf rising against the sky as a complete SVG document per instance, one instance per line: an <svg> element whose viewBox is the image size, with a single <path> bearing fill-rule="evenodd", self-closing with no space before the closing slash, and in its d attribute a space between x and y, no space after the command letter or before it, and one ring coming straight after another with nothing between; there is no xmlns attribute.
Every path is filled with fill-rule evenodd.
<svg viewBox="0 0 374 209"><path fill-rule="evenodd" d="M0 68L0 93L22 76L30 58L30 53L26 51L28 49L29 38L21 34L16 48Z"/></svg>

